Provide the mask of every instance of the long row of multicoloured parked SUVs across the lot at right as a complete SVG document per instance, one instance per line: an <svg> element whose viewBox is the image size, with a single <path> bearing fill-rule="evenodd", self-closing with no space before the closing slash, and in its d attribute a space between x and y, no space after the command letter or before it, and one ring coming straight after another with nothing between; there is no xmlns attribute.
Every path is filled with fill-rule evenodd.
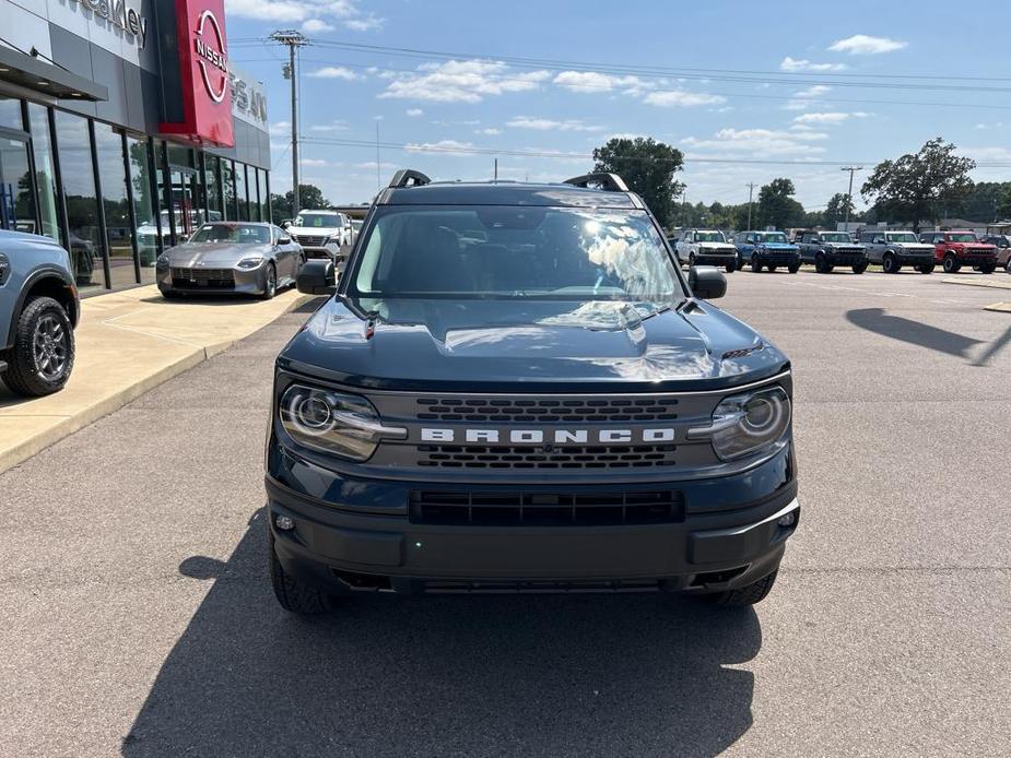
<svg viewBox="0 0 1011 758"><path fill-rule="evenodd" d="M957 273L964 265L985 274L998 268L1011 273L1011 237L994 235L979 239L973 232L925 232L862 229L855 236L847 232L799 229L790 241L784 232L737 232L728 240L719 229L684 229L669 237L678 261L686 265L710 264L727 272L750 265L754 272L784 268L790 273L801 264L819 273L836 267L862 274L873 263L894 274L909 267L929 274L937 267Z"/></svg>

